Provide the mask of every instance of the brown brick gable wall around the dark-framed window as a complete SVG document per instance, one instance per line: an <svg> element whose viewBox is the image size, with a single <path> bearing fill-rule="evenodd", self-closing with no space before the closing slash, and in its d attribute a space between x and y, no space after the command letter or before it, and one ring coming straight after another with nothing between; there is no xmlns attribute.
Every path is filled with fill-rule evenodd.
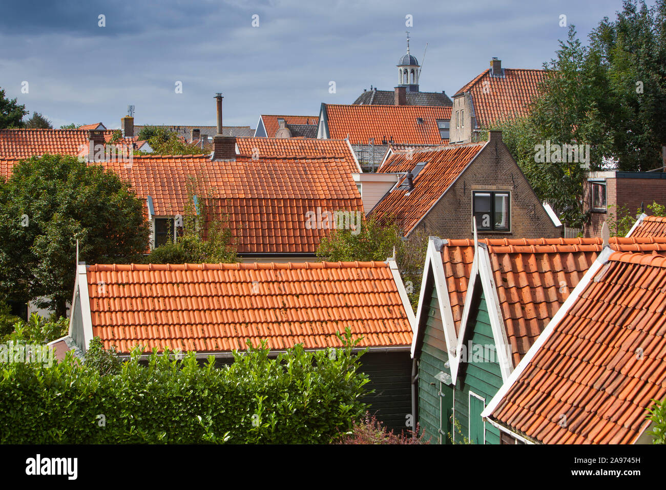
<svg viewBox="0 0 666 490"><path fill-rule="evenodd" d="M442 238L472 238L473 190L511 191L511 231L480 232L479 237L561 237L561 228L555 227L501 141L491 141L486 145L416 229Z"/></svg>

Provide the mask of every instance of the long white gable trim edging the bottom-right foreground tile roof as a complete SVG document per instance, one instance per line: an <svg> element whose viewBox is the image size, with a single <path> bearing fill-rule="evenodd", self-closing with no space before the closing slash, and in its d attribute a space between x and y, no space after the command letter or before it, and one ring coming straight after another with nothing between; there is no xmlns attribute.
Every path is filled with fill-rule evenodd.
<svg viewBox="0 0 666 490"><path fill-rule="evenodd" d="M506 395L509 389L511 389L513 383L515 383L515 380L520 377L523 371L525 371L525 367L527 367L527 365L531 362L537 351L541 349L541 346L545 343L545 341L547 341L551 333L553 333L553 330L555 330L555 327L557 327L557 324L563 319L564 315L566 315L569 309L571 309L573 303L575 303L581 292L587 287L587 285L596 275L597 271L599 271L599 268L608 261L608 257L611 255L611 253L613 253L613 249L610 247L605 247L601 253L597 255L597 259L587 270L587 273L585 273L583 279L581 279L576 287L573 288L573 291L571 291L569 297L565 299L564 303L561 305L561 307L559 307L559 310L557 310L557 313L555 313L555 316L553 316L551 321L548 322L548 325L546 325L543 332L541 332L541 335L539 335L537 338L537 341L533 343L533 345L529 348L529 351L527 351L523 359L521 359L521 361L515 367L513 373L511 373L509 376L509 379L507 379L507 381L501 385L500 390L496 393L490 403L488 403L488 407L486 407L484 412L481 414L482 417L489 417L490 414L493 413L493 411L498 407L501 399L504 397L504 395Z"/></svg>

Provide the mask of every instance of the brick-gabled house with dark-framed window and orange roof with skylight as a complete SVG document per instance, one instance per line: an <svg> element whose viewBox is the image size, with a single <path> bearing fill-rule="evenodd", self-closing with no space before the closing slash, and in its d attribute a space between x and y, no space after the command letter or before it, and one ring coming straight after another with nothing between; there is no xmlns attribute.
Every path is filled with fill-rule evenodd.
<svg viewBox="0 0 666 490"><path fill-rule="evenodd" d="M469 237L476 219L480 237L560 237L557 221L515 163L501 131L486 142L396 151L380 173L400 180L370 215L392 217L405 236Z"/></svg>

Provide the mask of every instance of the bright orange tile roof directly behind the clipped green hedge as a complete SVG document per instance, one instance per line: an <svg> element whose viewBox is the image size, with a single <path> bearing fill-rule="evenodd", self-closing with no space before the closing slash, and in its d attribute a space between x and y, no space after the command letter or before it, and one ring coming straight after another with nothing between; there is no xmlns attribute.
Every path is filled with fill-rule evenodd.
<svg viewBox="0 0 666 490"><path fill-rule="evenodd" d="M105 285L99 287L99 283ZM412 329L383 262L91 265L93 335L105 347L220 352L339 347L350 327L363 347L408 346Z"/></svg>

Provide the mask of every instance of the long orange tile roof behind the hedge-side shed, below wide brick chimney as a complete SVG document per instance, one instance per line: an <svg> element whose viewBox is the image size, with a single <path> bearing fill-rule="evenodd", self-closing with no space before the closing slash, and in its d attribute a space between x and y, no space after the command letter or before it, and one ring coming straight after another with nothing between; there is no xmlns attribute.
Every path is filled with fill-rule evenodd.
<svg viewBox="0 0 666 490"><path fill-rule="evenodd" d="M307 211L360 211L363 203L345 159L238 157L211 161L208 155L135 156L104 163L139 197L153 198L155 215L184 213L190 176L201 196L218 199L240 253L313 254L329 229L308 229Z"/></svg>

